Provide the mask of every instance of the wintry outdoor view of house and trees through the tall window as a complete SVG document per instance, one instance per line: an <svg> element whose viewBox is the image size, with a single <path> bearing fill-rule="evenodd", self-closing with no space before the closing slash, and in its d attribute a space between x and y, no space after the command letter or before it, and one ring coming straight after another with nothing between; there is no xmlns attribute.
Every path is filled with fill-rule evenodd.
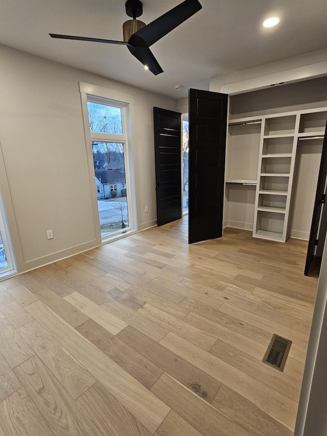
<svg viewBox="0 0 327 436"><path fill-rule="evenodd" d="M124 133L123 114L120 107L90 101L87 102L87 107L100 229L101 235L105 236L129 226L124 158L125 142L112 141L114 136ZM108 142L102 139L107 139Z"/></svg>

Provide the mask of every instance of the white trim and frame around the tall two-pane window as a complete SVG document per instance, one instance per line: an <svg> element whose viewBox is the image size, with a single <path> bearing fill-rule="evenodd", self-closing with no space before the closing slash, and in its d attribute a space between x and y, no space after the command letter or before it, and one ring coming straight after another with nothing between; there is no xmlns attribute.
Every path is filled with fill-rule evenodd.
<svg viewBox="0 0 327 436"><path fill-rule="evenodd" d="M120 93L119 91L103 88L101 86L91 85L84 82L79 82L79 90L81 94L82 103L82 117L84 126L84 136L85 136L85 146L88 162L88 172L90 187L92 187L92 209L95 222L95 230L97 239L102 242L108 242L111 239L122 234L122 231L112 232L110 235L104 235L101 237L100 225L99 223L99 212L98 212L98 197L96 182L94 177L94 163L92 148L90 147L91 141L99 142L118 142L124 144L124 159L125 168L129 171L125 173L126 177L126 191L127 191L127 201L130 205L130 210L128 212L129 226L124 230L124 235L128 233L134 233L137 231L137 214L136 214L136 195L135 195L135 178L133 170L133 154L132 154L132 132L134 131L133 125L133 114L134 114L134 97L128 94ZM125 116L123 119L123 134L111 134L111 133L98 133L90 132L89 122L88 122L88 110L87 101L97 101L101 103L101 99L106 99L106 103L112 104L115 107L121 107L125 111ZM108 140L108 138L111 138ZM126 231L126 232L125 232Z"/></svg>

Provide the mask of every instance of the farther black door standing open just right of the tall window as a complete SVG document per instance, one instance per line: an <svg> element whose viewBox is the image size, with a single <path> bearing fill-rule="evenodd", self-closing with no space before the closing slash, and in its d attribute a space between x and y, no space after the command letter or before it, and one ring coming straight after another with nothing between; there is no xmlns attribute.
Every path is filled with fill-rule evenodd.
<svg viewBox="0 0 327 436"><path fill-rule="evenodd" d="M171 110L153 108L157 224L182 217L181 116Z"/></svg>

